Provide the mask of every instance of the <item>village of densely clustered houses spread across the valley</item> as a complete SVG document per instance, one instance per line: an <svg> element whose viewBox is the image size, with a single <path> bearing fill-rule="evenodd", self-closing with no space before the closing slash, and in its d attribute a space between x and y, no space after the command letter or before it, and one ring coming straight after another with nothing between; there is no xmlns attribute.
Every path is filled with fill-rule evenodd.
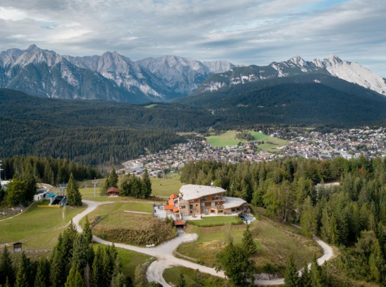
<svg viewBox="0 0 386 287"><path fill-rule="evenodd" d="M333 129L330 133L321 133L302 127L269 128L267 135L283 138L286 145L278 145L269 151L259 148L264 140L240 141L235 146L214 146L200 135L197 139L187 138L186 143L179 143L172 148L155 154L142 155L137 159L123 163L119 171L142 174L146 167L150 176L160 176L163 170L173 172L185 163L197 160L215 160L223 162L270 161L285 156L301 156L320 160L344 157L358 158L363 154L367 158L386 156L386 128L370 129ZM261 132L261 131L260 131Z"/></svg>

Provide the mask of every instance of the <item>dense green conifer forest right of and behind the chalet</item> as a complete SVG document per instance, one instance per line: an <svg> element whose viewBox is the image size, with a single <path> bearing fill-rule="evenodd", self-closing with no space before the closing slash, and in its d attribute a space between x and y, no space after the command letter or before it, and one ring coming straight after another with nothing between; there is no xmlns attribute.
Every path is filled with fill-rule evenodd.
<svg viewBox="0 0 386 287"><path fill-rule="evenodd" d="M386 283L383 158L198 161L181 170L181 182L209 185L211 181L226 189L226 195L263 207L267 216L300 224L305 236L318 235L338 246L338 267L349 277Z"/></svg>

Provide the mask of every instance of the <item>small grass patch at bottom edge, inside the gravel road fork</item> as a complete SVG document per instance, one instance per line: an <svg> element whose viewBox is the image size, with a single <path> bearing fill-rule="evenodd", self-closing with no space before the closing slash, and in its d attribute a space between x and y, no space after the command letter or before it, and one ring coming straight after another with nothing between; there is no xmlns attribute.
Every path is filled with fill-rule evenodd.
<svg viewBox="0 0 386 287"><path fill-rule="evenodd" d="M162 276L167 283L171 282L173 283L173 285L176 285L180 274L183 273L187 286L191 286L195 283L195 272L196 271L193 269L179 266L165 269L163 271ZM226 280L223 278L219 278L217 276L212 276L205 273L201 274L203 276L205 287L223 287L226 285Z"/></svg>

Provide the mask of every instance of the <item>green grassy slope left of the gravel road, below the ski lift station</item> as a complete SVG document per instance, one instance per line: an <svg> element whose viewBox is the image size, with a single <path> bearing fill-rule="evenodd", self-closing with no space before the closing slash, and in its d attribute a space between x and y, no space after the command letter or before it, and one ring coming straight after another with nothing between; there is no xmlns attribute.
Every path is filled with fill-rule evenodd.
<svg viewBox="0 0 386 287"><path fill-rule="evenodd" d="M37 205L0 222L0 244L21 241L26 249L50 249L71 218L87 207L38 208Z"/></svg>

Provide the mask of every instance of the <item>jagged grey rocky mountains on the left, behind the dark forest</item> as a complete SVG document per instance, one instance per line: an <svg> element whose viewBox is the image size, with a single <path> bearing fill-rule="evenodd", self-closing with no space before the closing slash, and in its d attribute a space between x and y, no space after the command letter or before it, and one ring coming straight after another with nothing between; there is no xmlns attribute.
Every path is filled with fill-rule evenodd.
<svg viewBox="0 0 386 287"><path fill-rule="evenodd" d="M49 98L166 101L187 96L210 75L234 67L178 56L135 62L117 52L74 57L31 45L0 52L0 88Z"/></svg>

